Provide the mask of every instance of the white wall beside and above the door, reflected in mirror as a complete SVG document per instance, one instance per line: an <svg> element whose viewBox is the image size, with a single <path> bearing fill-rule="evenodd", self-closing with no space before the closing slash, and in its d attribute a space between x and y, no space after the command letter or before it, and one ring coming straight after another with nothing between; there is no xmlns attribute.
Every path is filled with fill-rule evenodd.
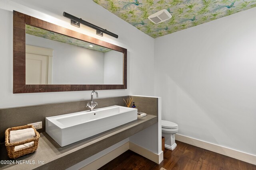
<svg viewBox="0 0 256 170"><path fill-rule="evenodd" d="M52 84L104 84L104 53L28 34L26 44L53 49Z"/></svg>

